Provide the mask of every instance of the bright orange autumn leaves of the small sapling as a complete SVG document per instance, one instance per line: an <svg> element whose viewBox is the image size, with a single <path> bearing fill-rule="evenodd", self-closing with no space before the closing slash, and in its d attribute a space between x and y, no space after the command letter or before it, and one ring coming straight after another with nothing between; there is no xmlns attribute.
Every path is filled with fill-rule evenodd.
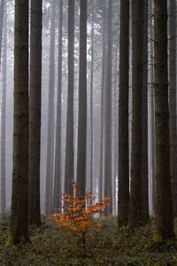
<svg viewBox="0 0 177 266"><path fill-rule="evenodd" d="M100 227L100 223L92 220L92 216L98 213L104 213L104 208L110 204L111 198L105 197L104 200L94 204L96 197L90 192L86 192L85 197L81 198L81 194L77 188L77 184L73 182L72 195L61 193L65 205L58 208L60 213L53 214L50 219L54 220L58 225L67 228L72 233L86 234L89 227ZM63 212L62 212L63 209Z"/></svg>

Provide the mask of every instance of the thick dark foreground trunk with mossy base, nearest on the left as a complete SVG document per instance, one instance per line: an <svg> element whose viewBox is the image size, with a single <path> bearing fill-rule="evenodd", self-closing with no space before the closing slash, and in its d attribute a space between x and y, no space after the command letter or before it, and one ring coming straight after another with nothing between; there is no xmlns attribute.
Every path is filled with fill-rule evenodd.
<svg viewBox="0 0 177 266"><path fill-rule="evenodd" d="M15 1L12 213L8 245L28 240L28 1Z"/></svg>

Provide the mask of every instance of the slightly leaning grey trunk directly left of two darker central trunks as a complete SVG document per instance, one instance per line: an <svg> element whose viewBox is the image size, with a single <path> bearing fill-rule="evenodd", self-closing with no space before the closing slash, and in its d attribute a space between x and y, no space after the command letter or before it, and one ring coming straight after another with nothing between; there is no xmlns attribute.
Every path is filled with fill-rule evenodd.
<svg viewBox="0 0 177 266"><path fill-rule="evenodd" d="M54 207L61 207L62 169L61 169L61 89L62 89L62 28L63 28L63 0L59 5L59 33L58 33L58 105L56 123L56 152L54 174Z"/></svg>

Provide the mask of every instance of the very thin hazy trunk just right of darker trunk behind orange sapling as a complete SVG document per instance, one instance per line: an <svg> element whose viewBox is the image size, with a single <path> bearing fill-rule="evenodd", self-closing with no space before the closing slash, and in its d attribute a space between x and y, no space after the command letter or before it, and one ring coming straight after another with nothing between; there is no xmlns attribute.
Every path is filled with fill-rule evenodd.
<svg viewBox="0 0 177 266"><path fill-rule="evenodd" d="M93 124L93 85L94 85L94 4L91 15L91 77L90 77L90 192L94 183L94 124Z"/></svg>

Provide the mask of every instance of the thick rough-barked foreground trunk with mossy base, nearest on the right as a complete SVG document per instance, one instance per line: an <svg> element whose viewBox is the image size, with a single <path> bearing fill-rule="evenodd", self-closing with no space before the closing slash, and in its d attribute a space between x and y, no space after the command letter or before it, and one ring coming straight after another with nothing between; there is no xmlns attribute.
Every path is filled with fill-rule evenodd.
<svg viewBox="0 0 177 266"><path fill-rule="evenodd" d="M167 3L154 7L156 227L163 238L173 236L167 73Z"/></svg>

